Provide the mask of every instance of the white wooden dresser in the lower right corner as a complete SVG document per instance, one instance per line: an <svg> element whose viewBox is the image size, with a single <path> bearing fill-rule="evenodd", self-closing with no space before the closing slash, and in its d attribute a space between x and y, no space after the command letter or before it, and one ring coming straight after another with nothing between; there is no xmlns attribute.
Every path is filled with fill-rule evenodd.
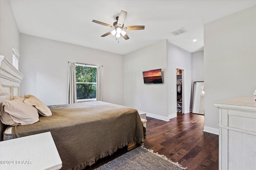
<svg viewBox="0 0 256 170"><path fill-rule="evenodd" d="M214 104L219 111L219 169L256 170L256 104L237 96Z"/></svg>

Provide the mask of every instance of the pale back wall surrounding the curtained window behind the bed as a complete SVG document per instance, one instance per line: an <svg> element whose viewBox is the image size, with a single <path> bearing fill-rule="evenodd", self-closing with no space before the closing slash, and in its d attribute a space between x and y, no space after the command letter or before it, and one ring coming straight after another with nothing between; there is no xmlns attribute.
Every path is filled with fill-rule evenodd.
<svg viewBox="0 0 256 170"><path fill-rule="evenodd" d="M123 55L20 34L20 95L33 94L46 105L67 103L68 61L103 65L104 102L124 104Z"/></svg>

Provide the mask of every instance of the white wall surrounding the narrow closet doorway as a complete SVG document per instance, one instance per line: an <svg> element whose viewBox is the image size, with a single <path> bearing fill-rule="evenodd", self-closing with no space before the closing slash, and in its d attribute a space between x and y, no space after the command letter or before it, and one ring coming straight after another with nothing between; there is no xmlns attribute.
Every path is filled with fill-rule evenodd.
<svg viewBox="0 0 256 170"><path fill-rule="evenodd" d="M182 91L182 94L184 96L184 99L182 99L185 102L185 106L183 106L184 113L189 113L190 109L192 109L191 105L191 76L192 76L192 58L191 53L181 49L180 47L177 47L176 45L173 45L171 43L167 43L167 55L168 55L168 70L169 70L169 87L167 90L168 93L168 110L169 110L169 117L173 117L176 115L176 109L177 109L177 103L176 103L176 68L184 69L184 80L182 86L184 87L184 90ZM171 89L173 89L173 92L171 92Z"/></svg>

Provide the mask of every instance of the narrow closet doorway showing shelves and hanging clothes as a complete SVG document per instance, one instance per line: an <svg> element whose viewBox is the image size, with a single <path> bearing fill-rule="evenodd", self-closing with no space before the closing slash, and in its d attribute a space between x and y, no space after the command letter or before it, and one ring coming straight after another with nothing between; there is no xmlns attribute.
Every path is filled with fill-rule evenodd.
<svg viewBox="0 0 256 170"><path fill-rule="evenodd" d="M176 107L178 113L184 113L184 87L184 69L176 68Z"/></svg>

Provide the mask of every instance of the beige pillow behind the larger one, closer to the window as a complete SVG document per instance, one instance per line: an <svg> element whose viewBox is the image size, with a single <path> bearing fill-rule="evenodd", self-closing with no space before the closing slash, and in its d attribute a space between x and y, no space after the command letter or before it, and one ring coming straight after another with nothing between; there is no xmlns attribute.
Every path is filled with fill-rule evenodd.
<svg viewBox="0 0 256 170"><path fill-rule="evenodd" d="M43 102L41 102L38 98L33 95L25 94L23 103L29 104L31 106L36 107L38 112L43 116L51 116L52 112Z"/></svg>

